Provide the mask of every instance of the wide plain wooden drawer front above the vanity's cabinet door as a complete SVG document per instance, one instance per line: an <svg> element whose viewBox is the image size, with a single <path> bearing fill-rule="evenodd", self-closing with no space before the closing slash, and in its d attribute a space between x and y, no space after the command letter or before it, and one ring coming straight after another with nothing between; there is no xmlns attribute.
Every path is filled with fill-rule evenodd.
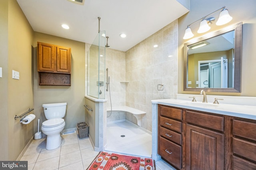
<svg viewBox="0 0 256 170"><path fill-rule="evenodd" d="M186 111L185 120L196 125L209 127L218 131L224 131L224 117L221 116L208 115L194 111Z"/></svg>

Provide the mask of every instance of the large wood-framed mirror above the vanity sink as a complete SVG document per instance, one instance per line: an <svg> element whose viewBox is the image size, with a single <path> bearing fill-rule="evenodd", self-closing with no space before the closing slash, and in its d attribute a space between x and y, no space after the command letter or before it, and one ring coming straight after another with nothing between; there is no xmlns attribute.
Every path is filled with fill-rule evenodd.
<svg viewBox="0 0 256 170"><path fill-rule="evenodd" d="M184 91L241 92L241 59L242 23L184 44Z"/></svg>

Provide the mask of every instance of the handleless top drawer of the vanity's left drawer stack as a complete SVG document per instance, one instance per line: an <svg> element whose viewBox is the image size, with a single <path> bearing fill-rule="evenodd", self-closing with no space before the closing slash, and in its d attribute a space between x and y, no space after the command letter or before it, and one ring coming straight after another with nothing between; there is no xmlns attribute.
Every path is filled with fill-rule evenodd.
<svg viewBox="0 0 256 170"><path fill-rule="evenodd" d="M170 117L173 119L181 120L182 119L182 109L176 109L176 108L160 105L160 115Z"/></svg>

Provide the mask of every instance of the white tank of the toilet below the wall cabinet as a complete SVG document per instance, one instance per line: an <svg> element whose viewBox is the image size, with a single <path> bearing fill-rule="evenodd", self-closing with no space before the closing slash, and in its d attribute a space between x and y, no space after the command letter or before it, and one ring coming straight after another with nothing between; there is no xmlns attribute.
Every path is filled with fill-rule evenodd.
<svg viewBox="0 0 256 170"><path fill-rule="evenodd" d="M43 104L46 119L63 118L66 114L67 103Z"/></svg>

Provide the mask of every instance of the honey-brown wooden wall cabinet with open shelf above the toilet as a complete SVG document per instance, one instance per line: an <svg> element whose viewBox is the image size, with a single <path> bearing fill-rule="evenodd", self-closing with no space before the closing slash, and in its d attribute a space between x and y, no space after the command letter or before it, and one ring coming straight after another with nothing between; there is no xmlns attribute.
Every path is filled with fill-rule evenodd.
<svg viewBox="0 0 256 170"><path fill-rule="evenodd" d="M71 49L37 43L39 85L71 85Z"/></svg>

